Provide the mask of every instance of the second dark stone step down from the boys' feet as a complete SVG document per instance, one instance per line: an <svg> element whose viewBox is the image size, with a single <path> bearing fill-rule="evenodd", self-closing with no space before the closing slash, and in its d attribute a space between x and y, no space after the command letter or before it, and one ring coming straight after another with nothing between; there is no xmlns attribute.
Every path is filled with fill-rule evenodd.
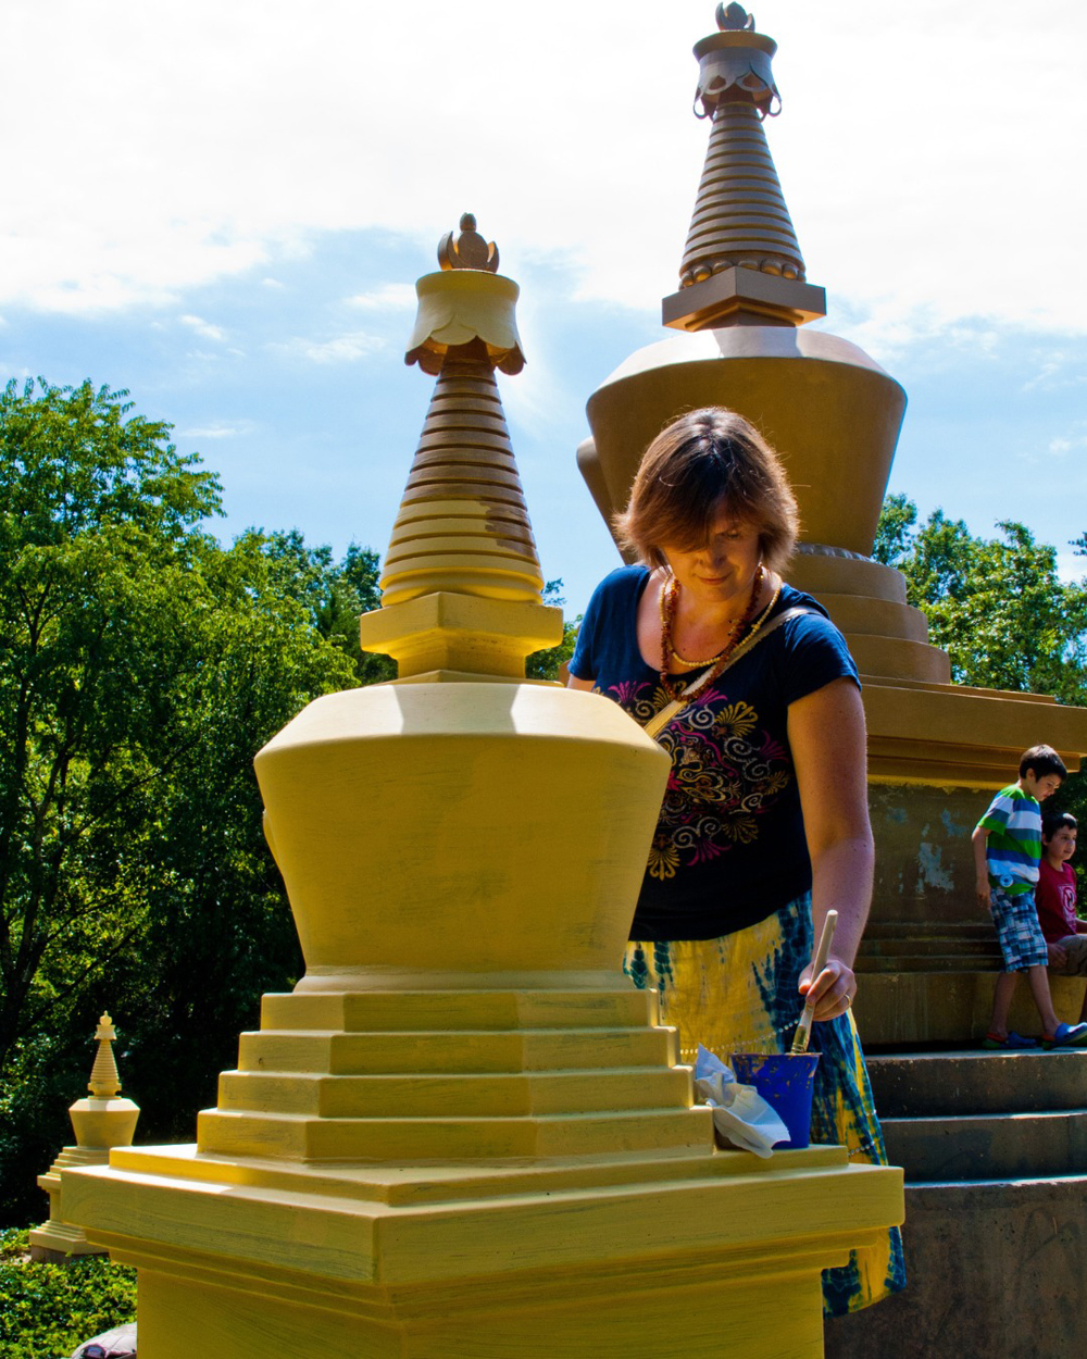
<svg viewBox="0 0 1087 1359"><path fill-rule="evenodd" d="M906 1184L1087 1173L1087 1109L880 1121Z"/></svg>

